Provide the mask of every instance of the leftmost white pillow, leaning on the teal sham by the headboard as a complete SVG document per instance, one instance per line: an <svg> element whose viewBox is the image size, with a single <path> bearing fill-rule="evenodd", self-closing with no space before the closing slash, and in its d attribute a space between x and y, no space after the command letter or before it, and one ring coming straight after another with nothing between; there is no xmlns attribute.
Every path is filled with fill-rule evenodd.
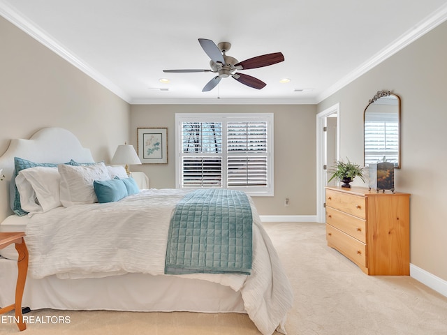
<svg viewBox="0 0 447 335"><path fill-rule="evenodd" d="M25 207L22 206L22 209L25 211L29 211L29 213L41 213L62 205L59 197L61 176L57 168L37 166L35 168L24 169L19 172L17 178L20 180L20 183L22 183L22 179L25 179L27 183L31 185L31 188L34 191L33 196L36 199L35 202L40 207L40 209L31 210L25 208L29 207L29 200L31 199L28 199ZM20 202L22 202L22 198L24 198L24 200L30 198L31 195L28 195L27 190L22 197L19 186L17 186L17 189L20 193Z"/></svg>

